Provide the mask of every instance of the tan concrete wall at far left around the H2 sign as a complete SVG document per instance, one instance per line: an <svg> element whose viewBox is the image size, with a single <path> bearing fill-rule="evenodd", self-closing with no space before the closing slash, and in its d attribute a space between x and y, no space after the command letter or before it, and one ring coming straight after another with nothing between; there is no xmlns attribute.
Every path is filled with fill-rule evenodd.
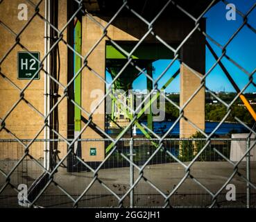
<svg viewBox="0 0 256 222"><path fill-rule="evenodd" d="M18 6L20 3L26 3L28 6L28 20L33 16L35 9L27 2L22 0L3 1L0 5L0 19L15 33L19 33L22 27L28 21L19 21L17 15L19 13ZM61 1L59 4L59 28L66 23L66 4ZM40 4L40 14L44 16L44 1ZM0 26L0 59L6 52L15 44L15 36L11 35L3 26ZM66 33L64 33L66 38ZM28 25L25 31L20 36L20 44L26 47L29 51L39 51L40 59L44 56L44 21L40 17L35 16L32 22ZM66 84L67 82L67 46L60 43L60 82ZM7 58L1 64L1 72L10 78L15 85L20 89L25 87L29 80L17 79L17 52L24 51L21 46L17 45L10 52ZM62 89L60 88L60 94ZM0 117L6 116L6 113L12 105L19 99L19 91L15 89L4 78L0 77ZM25 91L25 99L32 103L37 110L44 114L44 71L40 71L40 80L33 80L33 83ZM67 105L66 101L62 101L59 106L60 112L60 133L64 136L67 134ZM20 139L32 139L37 132L44 126L44 119L40 117L37 112L31 109L24 101L13 110L6 119L6 128L14 133ZM38 136L39 139L44 137L44 131ZM13 139L13 137L6 133L6 130L1 130L0 139ZM1 144L0 146L4 146ZM9 148L0 152L0 159L3 157L16 158L17 157L17 143L9 144ZM31 146L31 155L35 158L44 156L44 146L37 143ZM66 147L60 147L60 156L65 155Z"/></svg>

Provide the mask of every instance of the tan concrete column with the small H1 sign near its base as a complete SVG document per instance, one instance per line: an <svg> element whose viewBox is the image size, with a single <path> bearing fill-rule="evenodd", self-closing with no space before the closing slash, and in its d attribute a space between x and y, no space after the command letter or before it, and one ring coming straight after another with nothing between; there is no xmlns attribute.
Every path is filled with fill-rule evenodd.
<svg viewBox="0 0 256 222"><path fill-rule="evenodd" d="M83 17L82 30L82 54L86 55L94 46L95 42L101 37L101 29L87 17ZM90 54L87 64L96 71L101 77L105 78L105 41L101 41ZM96 105L101 101L105 94L105 83L89 69L82 71L82 107L87 112L92 112ZM87 119L86 114L82 112L83 117ZM87 119L88 120L88 119ZM99 105L92 114L92 121L101 130L105 130L105 103ZM82 123L82 129L85 123ZM101 135L96 133L94 129L87 127L82 135L83 139L101 139ZM90 153L91 149L96 149L95 155ZM100 162L105 158L104 142L82 142L82 158L86 162Z"/></svg>

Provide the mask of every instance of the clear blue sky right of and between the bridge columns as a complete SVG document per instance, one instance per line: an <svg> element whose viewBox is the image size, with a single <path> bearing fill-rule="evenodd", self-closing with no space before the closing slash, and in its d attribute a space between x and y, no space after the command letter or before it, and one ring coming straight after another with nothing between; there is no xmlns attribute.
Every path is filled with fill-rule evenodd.
<svg viewBox="0 0 256 222"><path fill-rule="evenodd" d="M253 6L256 0L233 0L229 1L230 3L234 3L237 9L244 14ZM235 21L228 21L225 17L228 10L225 9L225 4L223 2L219 2L207 12L205 17L207 18L207 34L210 35L216 42L219 42L222 46L228 42L229 38L233 35L237 28L243 24L243 18L237 14ZM248 23L256 28L256 8L250 12L248 16ZM210 42L210 40L208 40ZM218 56L221 56L221 49L218 46L212 44L214 51ZM247 26L241 29L239 34L234 37L234 40L230 42L227 47L227 55L235 60L236 62L244 67L246 71L249 73L252 72L256 68L256 33L253 33ZM171 60L157 60L153 62L153 66L155 67L155 73L153 74L153 78L157 78L162 71L167 67ZM206 71L208 71L212 65L214 65L213 56L210 51L206 49ZM223 65L225 65L226 69L228 69L234 81L237 83L240 89L242 89L246 83L248 83L248 76L238 69L236 66L232 64L232 62L223 58L221 60ZM159 88L167 82L170 76L178 69L179 62L175 62L171 69L167 71L160 82ZM256 76L256 74L254 75ZM110 82L110 75L107 74L107 80ZM255 79L256 77L254 77ZM256 82L256 80L254 80ZM207 76L206 78L206 86L213 91L223 91L225 92L234 92L234 88L229 83L228 79L223 74L223 71L219 66L215 67L215 69ZM135 82L133 83L133 89L146 89L146 76L143 74L139 76ZM179 92L180 91L180 76L177 76L175 80L167 87L166 92ZM250 85L246 92L256 92L256 88L253 85Z"/></svg>

